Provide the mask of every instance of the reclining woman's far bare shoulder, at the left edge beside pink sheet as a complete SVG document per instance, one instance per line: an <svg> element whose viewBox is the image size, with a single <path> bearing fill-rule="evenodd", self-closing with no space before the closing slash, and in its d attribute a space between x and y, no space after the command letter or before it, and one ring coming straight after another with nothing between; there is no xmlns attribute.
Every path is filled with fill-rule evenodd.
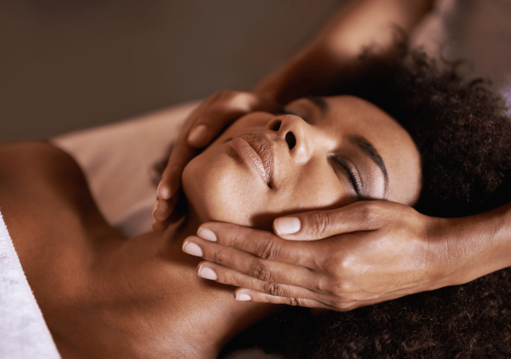
<svg viewBox="0 0 511 359"><path fill-rule="evenodd" d="M48 246L111 230L78 164L43 141L0 144L0 210L22 265Z"/></svg>

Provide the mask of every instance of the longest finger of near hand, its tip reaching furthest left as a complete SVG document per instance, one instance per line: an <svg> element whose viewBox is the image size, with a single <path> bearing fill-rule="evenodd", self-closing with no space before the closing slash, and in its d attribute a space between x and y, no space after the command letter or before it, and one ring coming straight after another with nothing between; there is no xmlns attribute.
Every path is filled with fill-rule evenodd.
<svg viewBox="0 0 511 359"><path fill-rule="evenodd" d="M238 249L204 241L197 236L188 237L184 241L182 248L185 253L199 256L223 266L223 272L227 271L233 276L230 278L231 280L240 279L237 275L242 275L245 279L250 278L252 283L253 280L257 280L259 286L255 289L259 291L265 288L271 290L272 286L276 288L278 285L293 285L316 292L320 291L317 286L317 283L320 282L317 274L304 267L264 260ZM224 280L228 279L228 277L224 277ZM241 282L227 283L222 281L222 283L237 286L243 285ZM278 288L280 290L280 287ZM276 291L277 289L274 290Z"/></svg>

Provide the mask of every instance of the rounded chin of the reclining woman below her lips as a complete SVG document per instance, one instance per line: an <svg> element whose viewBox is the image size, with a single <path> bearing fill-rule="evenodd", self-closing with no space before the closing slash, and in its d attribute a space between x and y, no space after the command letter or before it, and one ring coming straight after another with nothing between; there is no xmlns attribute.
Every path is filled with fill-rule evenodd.
<svg viewBox="0 0 511 359"><path fill-rule="evenodd" d="M229 222L254 227L260 213L258 183L243 176L239 166L226 155L209 156L207 151L184 168L181 183L190 211L201 222ZM252 190L251 190L252 189Z"/></svg>

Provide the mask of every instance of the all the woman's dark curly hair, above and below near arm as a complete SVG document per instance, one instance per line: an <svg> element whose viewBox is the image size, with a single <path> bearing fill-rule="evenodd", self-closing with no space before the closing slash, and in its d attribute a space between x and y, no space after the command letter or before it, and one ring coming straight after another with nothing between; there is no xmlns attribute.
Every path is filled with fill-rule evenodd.
<svg viewBox="0 0 511 359"><path fill-rule="evenodd" d="M416 209L461 217L511 202L511 125L486 82L463 81L458 63L438 64L400 44L366 51L311 94L352 94L379 106L411 135L422 159ZM236 340L286 358L509 358L511 271L470 283L314 317L289 307ZM251 339L252 340L252 339Z"/></svg>

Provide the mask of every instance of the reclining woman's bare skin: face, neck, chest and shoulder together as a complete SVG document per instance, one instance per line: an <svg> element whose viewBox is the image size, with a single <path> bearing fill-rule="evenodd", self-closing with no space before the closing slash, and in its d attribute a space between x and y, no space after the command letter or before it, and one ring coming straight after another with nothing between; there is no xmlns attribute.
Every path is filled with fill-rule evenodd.
<svg viewBox="0 0 511 359"><path fill-rule="evenodd" d="M191 235L201 223L261 229L277 213L338 207L362 195L416 201L419 153L381 109L338 96L300 99L286 112L236 121L185 167L186 218L133 238L106 223L70 156L45 142L0 143L0 208L63 358L215 358L237 333L278 310L229 300L231 288L196 275L203 251ZM374 153L353 142L361 137L386 163L388 185ZM250 145L240 147L244 139ZM310 261L303 264L309 269L299 278L320 279ZM215 279L211 267L198 268Z"/></svg>

